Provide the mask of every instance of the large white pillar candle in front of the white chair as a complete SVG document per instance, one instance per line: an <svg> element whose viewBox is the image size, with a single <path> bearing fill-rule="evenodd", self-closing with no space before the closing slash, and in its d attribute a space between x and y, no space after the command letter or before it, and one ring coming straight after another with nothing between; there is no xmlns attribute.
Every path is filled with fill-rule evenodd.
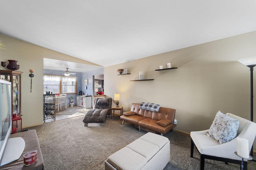
<svg viewBox="0 0 256 170"><path fill-rule="evenodd" d="M249 141L247 139L237 137L237 154L242 158L249 158Z"/></svg>

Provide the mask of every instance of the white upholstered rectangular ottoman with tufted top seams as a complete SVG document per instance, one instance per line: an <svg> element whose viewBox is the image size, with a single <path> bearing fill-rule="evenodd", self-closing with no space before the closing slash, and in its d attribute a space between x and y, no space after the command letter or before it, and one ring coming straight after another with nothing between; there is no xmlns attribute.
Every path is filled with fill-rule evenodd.
<svg viewBox="0 0 256 170"><path fill-rule="evenodd" d="M148 132L104 161L105 170L162 170L170 161L167 137Z"/></svg>

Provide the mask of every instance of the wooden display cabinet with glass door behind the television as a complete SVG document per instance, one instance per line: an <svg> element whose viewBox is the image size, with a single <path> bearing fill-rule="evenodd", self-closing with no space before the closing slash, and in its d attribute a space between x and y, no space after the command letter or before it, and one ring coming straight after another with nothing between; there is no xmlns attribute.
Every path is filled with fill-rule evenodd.
<svg viewBox="0 0 256 170"><path fill-rule="evenodd" d="M0 70L0 78L12 82L12 115L21 116L21 74L20 71Z"/></svg>

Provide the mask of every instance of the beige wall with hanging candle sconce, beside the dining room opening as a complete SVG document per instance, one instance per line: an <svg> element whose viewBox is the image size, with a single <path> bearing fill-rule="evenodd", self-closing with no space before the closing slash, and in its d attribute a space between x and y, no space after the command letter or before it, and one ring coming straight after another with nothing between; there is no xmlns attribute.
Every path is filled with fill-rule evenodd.
<svg viewBox="0 0 256 170"><path fill-rule="evenodd" d="M6 50L0 49L0 61L17 60L18 71L23 72L21 84L22 127L30 127L43 123L43 58L59 59L77 63L89 62L39 47L18 39L0 34L0 41L6 45ZM1 70L8 70L6 66ZM34 69L32 92L30 92L29 69Z"/></svg>

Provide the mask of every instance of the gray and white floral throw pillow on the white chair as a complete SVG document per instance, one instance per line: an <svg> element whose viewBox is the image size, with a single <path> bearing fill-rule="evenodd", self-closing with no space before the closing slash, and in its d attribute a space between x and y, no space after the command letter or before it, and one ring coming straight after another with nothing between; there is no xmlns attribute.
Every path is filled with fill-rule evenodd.
<svg viewBox="0 0 256 170"><path fill-rule="evenodd" d="M209 135L218 140L220 144L226 143L236 137L238 127L239 120L218 111L210 127Z"/></svg>

